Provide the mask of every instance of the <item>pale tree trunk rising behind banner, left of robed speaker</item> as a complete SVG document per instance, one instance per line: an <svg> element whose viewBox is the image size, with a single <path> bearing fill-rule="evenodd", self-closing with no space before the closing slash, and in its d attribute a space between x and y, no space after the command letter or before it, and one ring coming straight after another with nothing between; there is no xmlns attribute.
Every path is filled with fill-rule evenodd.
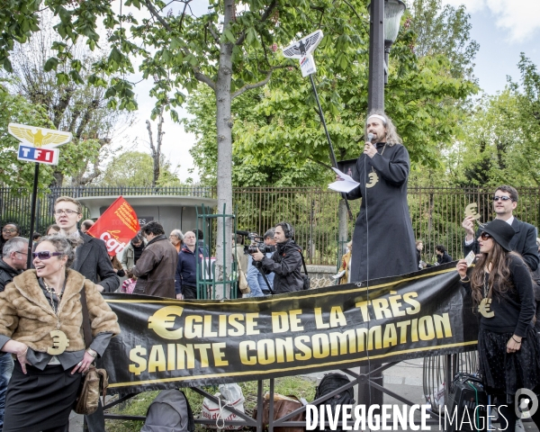
<svg viewBox="0 0 540 432"><path fill-rule="evenodd" d="M227 29L234 18L234 0L225 0L223 29ZM216 82L216 126L218 130L218 212L232 214L232 119L230 116L230 82L232 76L232 48L229 41L220 45L220 67ZM225 238L223 238L223 223ZM223 280L230 274L232 220L218 219L218 236L216 245L216 279ZM225 263L225 267L223 266ZM219 292L219 293L218 293ZM230 287L225 296L230 298ZM222 298L221 290L216 290L216 298Z"/></svg>

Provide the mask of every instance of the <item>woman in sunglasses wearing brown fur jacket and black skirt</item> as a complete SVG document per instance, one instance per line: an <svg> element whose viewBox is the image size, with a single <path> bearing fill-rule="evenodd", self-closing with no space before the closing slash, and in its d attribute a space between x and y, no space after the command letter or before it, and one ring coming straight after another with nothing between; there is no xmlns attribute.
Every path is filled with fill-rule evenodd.
<svg viewBox="0 0 540 432"><path fill-rule="evenodd" d="M82 374L120 333L95 285L69 269L75 254L67 238L41 238L32 256L35 269L16 276L0 293L0 347L16 357L4 432L67 430ZM83 289L92 321L87 349Z"/></svg>

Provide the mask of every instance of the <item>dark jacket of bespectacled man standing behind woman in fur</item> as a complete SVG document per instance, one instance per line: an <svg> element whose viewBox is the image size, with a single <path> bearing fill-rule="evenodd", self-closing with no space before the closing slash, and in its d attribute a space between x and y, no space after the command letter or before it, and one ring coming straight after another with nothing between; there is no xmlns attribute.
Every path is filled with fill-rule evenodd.
<svg viewBox="0 0 540 432"><path fill-rule="evenodd" d="M94 284L102 285L103 293L116 291L120 279L114 273L105 242L82 231L79 231L79 235L85 243L76 248L75 262L71 268Z"/></svg>

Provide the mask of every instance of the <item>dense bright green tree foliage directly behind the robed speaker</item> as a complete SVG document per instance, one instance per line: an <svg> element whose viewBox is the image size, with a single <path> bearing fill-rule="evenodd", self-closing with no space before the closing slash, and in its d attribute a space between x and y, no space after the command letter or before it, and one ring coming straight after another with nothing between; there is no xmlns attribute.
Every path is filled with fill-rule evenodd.
<svg viewBox="0 0 540 432"><path fill-rule="evenodd" d="M462 107L477 91L465 77L477 46L471 42L463 48L470 24L462 9L446 7L437 17L437 25L433 24L430 34L454 38L446 45L434 42L428 48L424 40L428 33L414 31L427 19L425 15L437 14L439 3L419 1L416 15L404 18L392 46L389 85L385 87L386 112L409 149L413 166L431 169L440 166L441 152L461 136ZM354 4L358 14L367 16L365 4ZM362 22L351 20L350 10L332 11L320 19L325 38L315 52L315 80L336 155L344 160L358 156L358 142L364 139L368 36ZM425 55L417 55L417 48ZM267 55L281 58L281 50L268 49ZM242 94L231 105L234 184L313 185L327 184L333 178L310 81L302 78L296 60L289 64L291 67L276 70L264 89ZM194 118L185 121L197 139L192 149L195 165L208 184L216 181L212 103L211 92L197 87L187 104Z"/></svg>

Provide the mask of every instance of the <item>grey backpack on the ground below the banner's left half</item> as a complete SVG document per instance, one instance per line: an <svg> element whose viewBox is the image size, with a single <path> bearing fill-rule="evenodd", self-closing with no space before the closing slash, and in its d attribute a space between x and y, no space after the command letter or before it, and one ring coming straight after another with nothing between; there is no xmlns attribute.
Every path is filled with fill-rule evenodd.
<svg viewBox="0 0 540 432"><path fill-rule="evenodd" d="M150 403L140 432L194 432L195 420L184 392L165 390Z"/></svg>

